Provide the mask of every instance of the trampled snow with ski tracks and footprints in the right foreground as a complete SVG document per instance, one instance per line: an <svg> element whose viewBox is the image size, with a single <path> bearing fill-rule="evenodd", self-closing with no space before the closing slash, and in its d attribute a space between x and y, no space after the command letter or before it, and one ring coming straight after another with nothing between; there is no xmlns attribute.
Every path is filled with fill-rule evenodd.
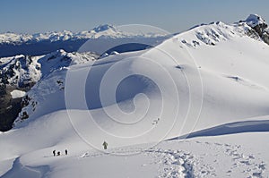
<svg viewBox="0 0 269 178"><path fill-rule="evenodd" d="M176 148L170 148L169 146ZM180 149L181 145L190 150ZM189 147L191 146L191 147ZM166 149L168 148L168 149ZM195 153L194 148L207 150ZM161 143L156 148L112 148L109 153L88 151L79 158L109 157L111 155L143 154L152 159L151 165L158 165L156 177L234 177L238 174L243 177L265 177L265 162L255 154L247 154L240 145L231 145L218 142L199 140L172 140ZM224 163L224 166L222 167ZM142 164L147 166L147 164ZM228 169L227 169L228 168ZM226 170L227 169L227 170Z"/></svg>

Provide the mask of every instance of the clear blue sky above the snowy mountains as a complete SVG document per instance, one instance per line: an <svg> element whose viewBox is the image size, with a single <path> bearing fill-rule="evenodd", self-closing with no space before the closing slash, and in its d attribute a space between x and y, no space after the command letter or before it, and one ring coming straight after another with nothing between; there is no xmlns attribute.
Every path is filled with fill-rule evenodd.
<svg viewBox="0 0 269 178"><path fill-rule="evenodd" d="M269 21L268 0L0 0L0 32L91 30L100 24L148 24L179 32L200 23Z"/></svg>

